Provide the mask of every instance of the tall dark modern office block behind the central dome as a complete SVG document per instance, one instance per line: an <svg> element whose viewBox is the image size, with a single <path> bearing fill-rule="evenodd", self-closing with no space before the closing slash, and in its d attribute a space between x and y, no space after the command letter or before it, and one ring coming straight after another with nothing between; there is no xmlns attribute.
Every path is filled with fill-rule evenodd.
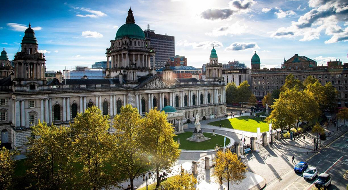
<svg viewBox="0 0 348 190"><path fill-rule="evenodd" d="M144 31L145 38L151 40L151 46L155 49L155 68L159 69L164 67L169 57L175 55L175 39L174 36L155 34L154 30L150 29L150 25L147 25L147 29ZM153 57L151 57L153 62Z"/></svg>

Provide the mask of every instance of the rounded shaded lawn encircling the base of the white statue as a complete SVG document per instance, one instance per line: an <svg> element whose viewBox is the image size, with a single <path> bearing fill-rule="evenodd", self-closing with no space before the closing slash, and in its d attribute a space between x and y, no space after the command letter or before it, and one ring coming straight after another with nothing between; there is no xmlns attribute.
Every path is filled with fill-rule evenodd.
<svg viewBox="0 0 348 190"><path fill-rule="evenodd" d="M212 136L212 133L204 133L205 137L211 138L210 140L206 140L203 142L191 142L189 140L186 140L186 138L189 138L192 136L192 132L185 132L178 134L174 137L175 141L178 141L178 138L180 138L180 149L183 150L209 150L214 149L216 144L218 144L220 147L223 147L224 144L224 136L217 135ZM230 139L226 139L226 146L230 143Z"/></svg>

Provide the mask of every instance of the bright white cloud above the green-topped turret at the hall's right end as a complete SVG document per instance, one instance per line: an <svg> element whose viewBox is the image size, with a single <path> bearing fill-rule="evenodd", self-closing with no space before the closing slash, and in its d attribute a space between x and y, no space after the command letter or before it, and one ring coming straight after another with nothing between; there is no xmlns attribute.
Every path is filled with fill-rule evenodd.
<svg viewBox="0 0 348 190"><path fill-rule="evenodd" d="M208 36L227 36L227 35L240 35L246 33L246 29L248 26L245 24L240 24L239 21L232 25L221 26L218 28L214 28L211 33L205 33Z"/></svg>

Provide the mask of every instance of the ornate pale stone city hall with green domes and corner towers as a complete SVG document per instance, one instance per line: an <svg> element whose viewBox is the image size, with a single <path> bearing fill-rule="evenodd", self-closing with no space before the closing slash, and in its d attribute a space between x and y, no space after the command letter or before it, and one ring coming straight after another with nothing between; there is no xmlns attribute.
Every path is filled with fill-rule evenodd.
<svg viewBox="0 0 348 190"><path fill-rule="evenodd" d="M77 113L91 106L98 107L102 114L111 118L126 104L137 107L141 115L157 108L168 114L168 122L177 133L182 132L187 120L194 120L196 114L209 119L226 113L222 65L218 63L214 48L206 65L205 80L173 78L168 64L163 76L157 76L154 70L156 49L135 24L131 9L126 23L110 42L106 49L109 64L104 79L64 79L59 71L55 79L47 82L45 55L38 52L38 41L29 24L20 51L13 59L14 67L5 50L0 57L2 143L12 148L24 146L31 136L31 126L39 120L69 126Z"/></svg>

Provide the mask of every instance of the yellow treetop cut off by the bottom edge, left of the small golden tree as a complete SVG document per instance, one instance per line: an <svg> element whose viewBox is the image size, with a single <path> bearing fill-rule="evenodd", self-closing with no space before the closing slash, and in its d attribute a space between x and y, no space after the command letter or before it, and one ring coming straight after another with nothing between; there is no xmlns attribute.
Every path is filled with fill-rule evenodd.
<svg viewBox="0 0 348 190"><path fill-rule="evenodd" d="M181 172L167 180L164 188L168 190L195 190L197 179L193 174Z"/></svg>

